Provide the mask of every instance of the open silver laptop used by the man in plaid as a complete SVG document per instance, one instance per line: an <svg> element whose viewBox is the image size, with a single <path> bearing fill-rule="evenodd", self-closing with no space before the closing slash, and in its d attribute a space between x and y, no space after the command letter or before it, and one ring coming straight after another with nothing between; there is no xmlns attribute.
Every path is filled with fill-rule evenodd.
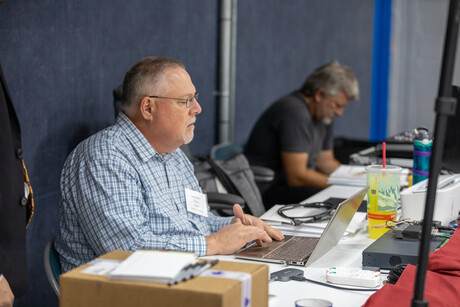
<svg viewBox="0 0 460 307"><path fill-rule="evenodd" d="M320 238L284 236L283 241L264 242L263 246L252 245L238 252L235 257L285 265L309 266L337 245L368 189L368 186L361 189L337 206Z"/></svg>

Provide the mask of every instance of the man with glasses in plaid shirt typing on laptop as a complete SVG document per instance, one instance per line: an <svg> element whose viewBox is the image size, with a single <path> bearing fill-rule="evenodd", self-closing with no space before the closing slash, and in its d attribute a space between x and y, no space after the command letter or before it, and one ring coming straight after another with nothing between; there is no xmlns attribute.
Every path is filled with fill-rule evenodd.
<svg viewBox="0 0 460 307"><path fill-rule="evenodd" d="M201 188L179 146L193 139L197 97L174 59L147 57L126 73L116 123L78 145L62 171L56 249L63 272L115 249L205 256L284 238L239 205L233 218L207 205L188 209L186 190Z"/></svg>

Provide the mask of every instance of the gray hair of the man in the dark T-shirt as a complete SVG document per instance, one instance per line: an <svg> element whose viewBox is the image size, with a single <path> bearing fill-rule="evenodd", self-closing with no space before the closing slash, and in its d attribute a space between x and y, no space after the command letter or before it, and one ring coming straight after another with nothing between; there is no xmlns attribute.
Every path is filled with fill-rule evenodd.
<svg viewBox="0 0 460 307"><path fill-rule="evenodd" d="M308 76L300 91L307 97L313 97L320 88L324 89L327 96L334 96L342 91L349 100L359 99L358 80L353 71L337 61L318 67Z"/></svg>

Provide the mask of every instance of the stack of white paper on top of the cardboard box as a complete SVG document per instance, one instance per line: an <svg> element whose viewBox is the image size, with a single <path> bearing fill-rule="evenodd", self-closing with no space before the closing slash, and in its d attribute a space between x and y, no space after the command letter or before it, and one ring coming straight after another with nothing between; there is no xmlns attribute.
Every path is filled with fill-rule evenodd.
<svg viewBox="0 0 460 307"><path fill-rule="evenodd" d="M168 283L196 261L193 253L138 250L110 272L109 278Z"/></svg>

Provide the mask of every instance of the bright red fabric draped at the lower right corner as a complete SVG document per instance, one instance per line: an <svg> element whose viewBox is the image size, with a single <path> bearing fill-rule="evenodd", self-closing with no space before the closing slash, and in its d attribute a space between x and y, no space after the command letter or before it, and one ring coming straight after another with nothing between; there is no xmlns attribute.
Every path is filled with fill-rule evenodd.
<svg viewBox="0 0 460 307"><path fill-rule="evenodd" d="M408 265L396 285L386 284L365 307L411 306L417 267ZM460 230L440 249L430 253L424 299L429 306L460 306Z"/></svg>

